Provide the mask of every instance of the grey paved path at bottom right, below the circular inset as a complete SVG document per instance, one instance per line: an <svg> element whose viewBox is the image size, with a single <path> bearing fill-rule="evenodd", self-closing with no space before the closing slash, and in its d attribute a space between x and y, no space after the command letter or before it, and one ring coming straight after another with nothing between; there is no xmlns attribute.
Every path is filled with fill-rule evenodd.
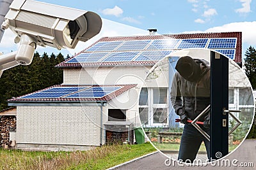
<svg viewBox="0 0 256 170"><path fill-rule="evenodd" d="M214 164L207 164L207 166L186 166L182 164L183 166L179 166L178 162L173 161L170 166L166 166L165 160L168 159L166 156L164 156L162 153L154 153L148 157L144 157L143 159L138 159L133 162L130 162L129 164L125 164L124 166L117 167L116 169L244 169L244 170L250 170L254 169L256 170L256 140L246 139L239 148L235 150L235 152L228 155L228 157L222 159L227 161L218 161L216 162L216 165ZM228 161L230 161L230 166L228 166ZM233 162L233 163L232 163ZM253 164L253 167L241 167L242 164ZM167 164L170 164L170 162L166 162ZM223 164L224 166L221 166ZM233 166L234 164L235 166ZM226 166L227 165L227 166ZM237 165L237 166L236 166Z"/></svg>

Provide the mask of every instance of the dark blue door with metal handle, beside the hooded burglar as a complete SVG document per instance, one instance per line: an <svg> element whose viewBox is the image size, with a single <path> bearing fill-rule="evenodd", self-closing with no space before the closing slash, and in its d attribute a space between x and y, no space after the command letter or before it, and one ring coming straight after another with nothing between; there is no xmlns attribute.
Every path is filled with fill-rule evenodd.
<svg viewBox="0 0 256 170"><path fill-rule="evenodd" d="M211 52L211 159L228 154L228 58Z"/></svg>

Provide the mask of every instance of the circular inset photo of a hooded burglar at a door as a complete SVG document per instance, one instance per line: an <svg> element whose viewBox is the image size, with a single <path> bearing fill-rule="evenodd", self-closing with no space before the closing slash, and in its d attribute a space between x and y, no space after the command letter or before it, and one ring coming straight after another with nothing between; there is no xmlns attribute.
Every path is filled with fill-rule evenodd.
<svg viewBox="0 0 256 170"><path fill-rule="evenodd" d="M150 69L140 91L140 121L166 157L202 163L243 143L253 122L252 86L243 69L214 50L177 50Z"/></svg>

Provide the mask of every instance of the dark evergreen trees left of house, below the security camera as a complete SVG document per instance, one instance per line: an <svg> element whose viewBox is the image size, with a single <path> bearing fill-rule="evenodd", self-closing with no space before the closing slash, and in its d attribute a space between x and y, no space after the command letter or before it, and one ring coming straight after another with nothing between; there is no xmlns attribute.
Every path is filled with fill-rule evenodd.
<svg viewBox="0 0 256 170"><path fill-rule="evenodd" d="M52 85L63 83L63 69L54 67L63 62L61 53L50 57L44 53L42 57L36 52L29 66L16 66L3 72L0 78L0 110L8 108L7 100Z"/></svg>

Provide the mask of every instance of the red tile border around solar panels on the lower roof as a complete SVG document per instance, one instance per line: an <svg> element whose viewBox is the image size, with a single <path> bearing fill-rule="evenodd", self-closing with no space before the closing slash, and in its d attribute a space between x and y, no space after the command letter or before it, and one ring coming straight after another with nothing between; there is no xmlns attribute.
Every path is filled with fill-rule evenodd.
<svg viewBox="0 0 256 170"><path fill-rule="evenodd" d="M80 85L81 86L81 85ZM129 84L129 85L83 85L81 87L84 86L91 86L91 87L121 87L118 90L115 90L114 92L111 92L110 94L100 97L100 98L33 98L33 99L20 99L19 97L23 97L23 96L19 96L19 97L15 97L12 99L9 99L8 102L31 102L31 101L36 101L36 102L54 102L54 101L110 101L111 99L114 99L115 97L119 96L120 94L126 92L129 89L132 89L133 87L136 87L136 84ZM43 90L47 90L47 89L51 89L52 87L79 87L78 85L54 85L51 87L48 87L46 89L42 89L42 90L38 90L36 92L33 92L31 94L35 94L37 92L41 92ZM26 94L24 96L27 96L29 94Z"/></svg>

